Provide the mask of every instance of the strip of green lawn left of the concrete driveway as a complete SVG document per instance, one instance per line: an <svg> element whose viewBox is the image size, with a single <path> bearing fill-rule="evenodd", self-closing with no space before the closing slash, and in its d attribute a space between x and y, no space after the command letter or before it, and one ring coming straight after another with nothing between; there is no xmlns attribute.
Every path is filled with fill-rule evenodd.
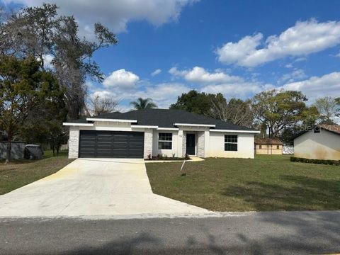
<svg viewBox="0 0 340 255"><path fill-rule="evenodd" d="M52 157L50 151L45 152L44 158L40 160L20 159L13 160L10 164L1 161L0 195L54 174L72 161L73 159L67 159L67 152Z"/></svg>

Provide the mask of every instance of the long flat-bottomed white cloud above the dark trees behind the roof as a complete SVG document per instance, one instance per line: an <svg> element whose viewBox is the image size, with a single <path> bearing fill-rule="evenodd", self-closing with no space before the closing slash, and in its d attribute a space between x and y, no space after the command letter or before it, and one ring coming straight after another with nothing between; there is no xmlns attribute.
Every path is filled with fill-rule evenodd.
<svg viewBox="0 0 340 255"><path fill-rule="evenodd" d="M172 67L169 73L174 76L183 77L186 81L208 84L208 83L220 83L226 81L239 81L240 77L230 76L222 70L217 69L215 72L210 73L203 67L193 67L193 69L179 70L176 67Z"/></svg>

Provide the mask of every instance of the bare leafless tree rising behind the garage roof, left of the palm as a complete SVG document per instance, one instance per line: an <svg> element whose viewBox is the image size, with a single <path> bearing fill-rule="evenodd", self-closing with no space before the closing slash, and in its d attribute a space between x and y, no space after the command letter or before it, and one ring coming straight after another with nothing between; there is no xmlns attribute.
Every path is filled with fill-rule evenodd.
<svg viewBox="0 0 340 255"><path fill-rule="evenodd" d="M92 115L101 115L105 113L112 113L115 111L115 108L118 106L118 101L111 97L100 97L100 96L92 96L89 98L89 106L88 109Z"/></svg>

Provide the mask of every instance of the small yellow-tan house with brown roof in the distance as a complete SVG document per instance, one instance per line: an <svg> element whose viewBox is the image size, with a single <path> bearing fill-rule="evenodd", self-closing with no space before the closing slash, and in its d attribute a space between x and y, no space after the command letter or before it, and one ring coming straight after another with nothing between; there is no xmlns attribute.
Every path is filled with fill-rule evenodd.
<svg viewBox="0 0 340 255"><path fill-rule="evenodd" d="M281 155L283 151L283 142L278 139L256 138L255 154Z"/></svg>

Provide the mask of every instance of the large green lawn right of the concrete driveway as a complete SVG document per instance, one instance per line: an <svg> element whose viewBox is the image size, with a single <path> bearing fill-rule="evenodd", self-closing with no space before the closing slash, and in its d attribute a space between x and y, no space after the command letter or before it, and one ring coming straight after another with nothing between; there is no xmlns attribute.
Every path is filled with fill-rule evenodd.
<svg viewBox="0 0 340 255"><path fill-rule="evenodd" d="M152 190L216 211L340 209L340 166L289 156L147 164Z"/></svg>

